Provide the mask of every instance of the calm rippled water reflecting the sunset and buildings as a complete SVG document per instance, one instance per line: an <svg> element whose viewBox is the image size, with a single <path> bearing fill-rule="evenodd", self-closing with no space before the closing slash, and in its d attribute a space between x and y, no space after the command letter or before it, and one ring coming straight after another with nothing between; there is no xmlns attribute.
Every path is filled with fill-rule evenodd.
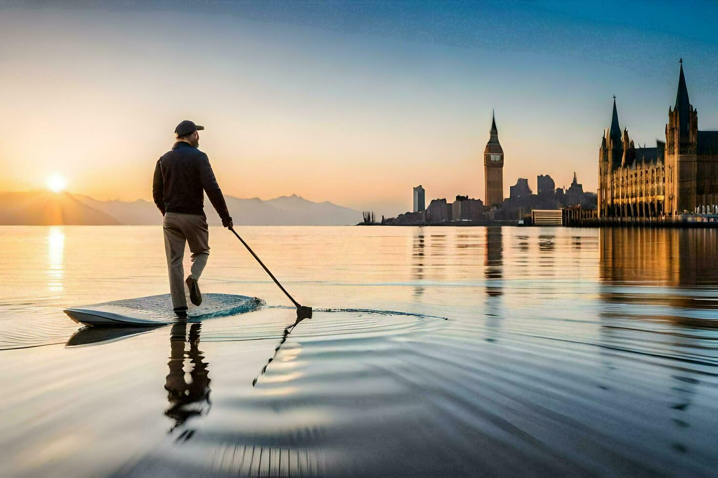
<svg viewBox="0 0 718 478"><path fill-rule="evenodd" d="M162 232L0 228L4 474L714 473L716 231L242 232L344 310L281 343L286 298L212 228L202 291L267 307L78 332L62 307L167 292Z"/></svg>

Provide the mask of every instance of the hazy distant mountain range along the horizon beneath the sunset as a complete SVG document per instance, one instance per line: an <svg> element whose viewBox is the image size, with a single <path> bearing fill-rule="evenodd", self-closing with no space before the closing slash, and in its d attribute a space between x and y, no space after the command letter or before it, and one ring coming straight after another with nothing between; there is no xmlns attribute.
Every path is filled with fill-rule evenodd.
<svg viewBox="0 0 718 478"><path fill-rule="evenodd" d="M361 221L360 211L329 201L315 203L296 194L263 201L225 196L235 224L248 226L340 226ZM205 198L208 223L222 224ZM149 225L162 224L162 215L150 201L98 201L72 193L34 191L0 193L0 224Z"/></svg>

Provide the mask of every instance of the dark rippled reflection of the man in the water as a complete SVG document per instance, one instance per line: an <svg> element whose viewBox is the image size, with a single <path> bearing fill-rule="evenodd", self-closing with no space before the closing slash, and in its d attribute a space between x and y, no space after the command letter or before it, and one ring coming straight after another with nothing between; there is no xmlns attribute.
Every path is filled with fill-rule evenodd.
<svg viewBox="0 0 718 478"><path fill-rule="evenodd" d="M200 323L192 324L190 337L185 338L187 322L180 322L172 325L169 335L169 374L164 383L169 407L164 414L174 420L172 430L184 424L190 416L207 414L212 405L208 363L199 349L201 328ZM185 343L190 344L190 350L185 349ZM185 357L190 359L192 368L189 383L185 379Z"/></svg>

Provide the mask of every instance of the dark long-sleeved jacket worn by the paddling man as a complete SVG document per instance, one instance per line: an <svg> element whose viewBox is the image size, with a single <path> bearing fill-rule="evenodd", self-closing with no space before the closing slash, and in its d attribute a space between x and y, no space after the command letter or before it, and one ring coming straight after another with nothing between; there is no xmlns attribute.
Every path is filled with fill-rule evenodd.
<svg viewBox="0 0 718 478"><path fill-rule="evenodd" d="M164 153L154 168L154 204L162 216L166 212L181 212L206 218L202 190L207 192L223 223L230 221L232 218L207 155L184 141L174 143L172 150Z"/></svg>

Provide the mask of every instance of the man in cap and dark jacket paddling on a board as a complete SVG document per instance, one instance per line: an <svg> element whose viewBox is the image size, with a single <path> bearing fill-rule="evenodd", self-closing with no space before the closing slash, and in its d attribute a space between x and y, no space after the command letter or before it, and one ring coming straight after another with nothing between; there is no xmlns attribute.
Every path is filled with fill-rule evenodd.
<svg viewBox="0 0 718 478"><path fill-rule="evenodd" d="M203 191L222 218L222 225L232 227L232 218L210 161L205 153L197 149L200 145L200 133L197 130L204 129L187 120L174 128L177 143L157 161L152 183L154 204L157 204L164 216L164 252L167 254L172 307L180 317L187 317L185 284L182 283L185 275L182 267L185 242L190 244L192 252L192 271L185 283L190 290L192 304L202 303L197 281L210 255Z"/></svg>

